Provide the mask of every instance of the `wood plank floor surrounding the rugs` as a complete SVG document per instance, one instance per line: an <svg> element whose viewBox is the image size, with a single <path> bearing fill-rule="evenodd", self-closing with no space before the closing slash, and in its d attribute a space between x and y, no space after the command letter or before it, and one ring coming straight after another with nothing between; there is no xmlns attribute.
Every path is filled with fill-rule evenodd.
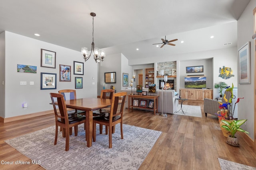
<svg viewBox="0 0 256 170"><path fill-rule="evenodd" d="M203 102L184 102L201 106L202 118L168 114L154 115L150 111L125 109L124 124L162 131L158 141L139 170L220 170L217 158L256 167L256 152L240 137L240 147L226 144L218 119L205 117ZM54 115L0 123L0 161L29 161L4 141L54 125ZM54 142L54 139L53 141ZM63 146L64 147L64 146ZM43 169L39 165L3 165L1 170Z"/></svg>

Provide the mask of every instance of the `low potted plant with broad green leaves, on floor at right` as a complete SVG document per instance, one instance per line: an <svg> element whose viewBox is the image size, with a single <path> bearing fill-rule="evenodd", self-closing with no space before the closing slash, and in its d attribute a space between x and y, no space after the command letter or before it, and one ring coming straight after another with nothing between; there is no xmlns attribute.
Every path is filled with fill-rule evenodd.
<svg viewBox="0 0 256 170"><path fill-rule="evenodd" d="M244 132L244 133L249 133L248 131L245 131L245 130L240 128L240 126L242 124L244 124L244 122L246 122L247 119L232 120L232 121L222 119L221 121L226 124L226 125L222 125L222 127L230 132L230 135L228 136L228 139L227 139L227 143L229 145L233 145L233 146L238 147L239 143L238 143L237 137L235 137L235 134L236 134L237 131Z"/></svg>

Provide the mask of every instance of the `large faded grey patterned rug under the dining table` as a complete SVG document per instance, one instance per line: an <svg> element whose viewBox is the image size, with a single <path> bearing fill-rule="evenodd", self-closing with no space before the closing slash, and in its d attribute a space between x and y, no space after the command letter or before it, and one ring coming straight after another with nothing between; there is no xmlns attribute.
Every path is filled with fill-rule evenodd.
<svg viewBox="0 0 256 170"><path fill-rule="evenodd" d="M65 151L65 138L62 133L58 133L57 145L54 145L55 126L5 142L33 162L40 162L47 170L136 170L162 132L123 125L124 139L121 139L120 125L116 125L111 149L108 148L108 135L100 134L99 126L96 133L96 142L92 142L92 147L88 148L84 126L79 125L78 136L74 136L74 129L70 136L69 151Z"/></svg>

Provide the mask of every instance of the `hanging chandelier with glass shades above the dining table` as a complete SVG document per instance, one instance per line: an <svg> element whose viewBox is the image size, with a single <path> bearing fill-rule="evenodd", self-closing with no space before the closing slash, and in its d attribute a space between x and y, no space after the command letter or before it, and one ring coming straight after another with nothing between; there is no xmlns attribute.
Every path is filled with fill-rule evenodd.
<svg viewBox="0 0 256 170"><path fill-rule="evenodd" d="M94 17L96 16L96 14L94 12L91 12L90 15L92 16L92 49L89 55L88 49L86 47L82 47L81 54L83 55L84 61L87 61L93 54L95 62L100 63L100 61L103 61L103 59L106 57L106 53L104 50L94 48Z"/></svg>

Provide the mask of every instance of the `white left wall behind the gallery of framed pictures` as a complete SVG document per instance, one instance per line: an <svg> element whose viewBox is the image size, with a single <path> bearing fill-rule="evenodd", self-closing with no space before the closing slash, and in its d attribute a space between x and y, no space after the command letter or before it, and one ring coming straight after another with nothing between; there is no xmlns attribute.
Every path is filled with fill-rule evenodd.
<svg viewBox="0 0 256 170"><path fill-rule="evenodd" d="M97 96L97 64L94 59L89 59L84 63L83 76L74 75L73 62L84 62L80 51L74 51L8 31L5 32L5 42L5 118L52 110L53 107L49 104L51 102L49 93L58 93L58 90L62 89L75 89L75 77L83 77L84 83L82 89L76 89L77 98ZM41 49L56 52L56 68L40 66ZM17 72L17 64L37 66L37 73ZM71 66L71 82L60 82L59 64ZM56 90L40 90L41 72L57 74ZM20 81L26 81L27 85L19 85ZM30 81L34 81L34 85L29 85ZM27 109L22 108L24 102L28 104Z"/></svg>

